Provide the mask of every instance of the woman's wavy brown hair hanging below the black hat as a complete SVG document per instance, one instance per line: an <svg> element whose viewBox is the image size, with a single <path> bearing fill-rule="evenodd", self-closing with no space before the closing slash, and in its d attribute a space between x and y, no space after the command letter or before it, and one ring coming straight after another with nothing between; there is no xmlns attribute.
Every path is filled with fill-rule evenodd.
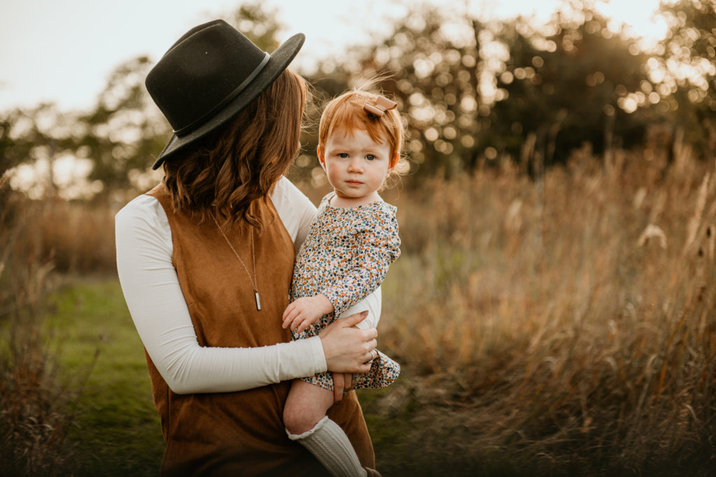
<svg viewBox="0 0 716 477"><path fill-rule="evenodd" d="M261 230L251 209L269 192L299 151L306 82L289 69L231 121L164 163L175 210L200 222L246 220Z"/></svg>

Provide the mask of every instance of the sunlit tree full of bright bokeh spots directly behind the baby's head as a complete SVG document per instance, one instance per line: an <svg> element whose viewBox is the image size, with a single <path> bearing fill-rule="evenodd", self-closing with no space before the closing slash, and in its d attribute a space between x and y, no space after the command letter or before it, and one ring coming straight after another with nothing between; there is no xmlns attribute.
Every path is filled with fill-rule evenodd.
<svg viewBox="0 0 716 477"><path fill-rule="evenodd" d="M377 87L395 97L404 114L412 171L450 173L468 167L479 129L475 38L482 26L472 19L457 21L468 31L458 41L446 31L454 19L434 7L415 9L384 41L349 51L346 57L352 61L321 64L311 78L319 99L326 102L363 79L381 78ZM315 147L313 139L305 149L312 154Z"/></svg>

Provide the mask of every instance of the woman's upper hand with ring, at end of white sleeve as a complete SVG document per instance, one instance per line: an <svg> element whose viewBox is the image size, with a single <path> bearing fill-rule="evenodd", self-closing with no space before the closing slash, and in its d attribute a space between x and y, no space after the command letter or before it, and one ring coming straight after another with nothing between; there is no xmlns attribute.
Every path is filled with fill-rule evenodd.
<svg viewBox="0 0 716 477"><path fill-rule="evenodd" d="M333 373L367 373L369 360L377 346L378 332L375 328L359 330L355 325L367 317L368 312L340 318L324 328L319 337L326 355L328 370Z"/></svg>

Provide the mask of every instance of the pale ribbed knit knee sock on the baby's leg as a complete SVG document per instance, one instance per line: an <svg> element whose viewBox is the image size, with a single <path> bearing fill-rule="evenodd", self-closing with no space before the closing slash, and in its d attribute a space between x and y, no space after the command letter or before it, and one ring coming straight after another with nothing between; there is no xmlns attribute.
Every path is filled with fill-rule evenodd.
<svg viewBox="0 0 716 477"><path fill-rule="evenodd" d="M334 477L367 476L360 465L356 451L343 429L328 416L318 421L316 426L303 434L291 434L291 441L296 441L308 449Z"/></svg>

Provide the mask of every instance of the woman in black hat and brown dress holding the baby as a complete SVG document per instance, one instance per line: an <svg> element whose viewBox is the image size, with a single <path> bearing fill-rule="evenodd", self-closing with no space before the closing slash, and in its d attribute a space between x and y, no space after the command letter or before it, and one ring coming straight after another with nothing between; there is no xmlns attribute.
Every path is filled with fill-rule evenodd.
<svg viewBox="0 0 716 477"><path fill-rule="evenodd" d="M147 75L175 134L153 166L162 184L117 214L117 270L161 416L163 475L325 473L281 423L290 380L325 370L340 400L329 416L374 472L357 398L342 392L346 376L369 370L377 332L353 328L365 314L308 340L281 328L315 211L283 177L306 95L286 67L303 41L269 55L211 21ZM379 313L378 296L367 305Z"/></svg>

